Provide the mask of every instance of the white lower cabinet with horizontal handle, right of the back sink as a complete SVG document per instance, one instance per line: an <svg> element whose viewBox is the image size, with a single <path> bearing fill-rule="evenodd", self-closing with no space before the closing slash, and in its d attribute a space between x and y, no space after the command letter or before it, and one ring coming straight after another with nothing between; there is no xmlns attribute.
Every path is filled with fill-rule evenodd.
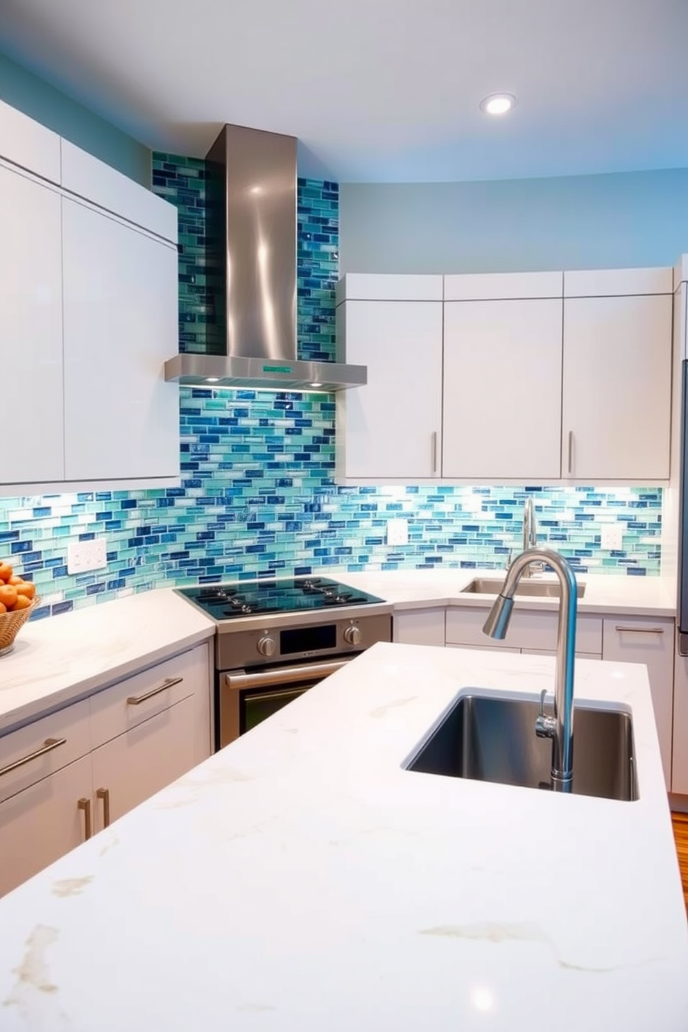
<svg viewBox="0 0 688 1032"><path fill-rule="evenodd" d="M648 668L652 705L666 787L671 787L671 730L674 713L673 619L648 620L637 616L611 616L603 620L602 659L643 663ZM688 789L688 785L686 786ZM674 792L682 789L674 786ZM686 789L684 789L686 791Z"/></svg>

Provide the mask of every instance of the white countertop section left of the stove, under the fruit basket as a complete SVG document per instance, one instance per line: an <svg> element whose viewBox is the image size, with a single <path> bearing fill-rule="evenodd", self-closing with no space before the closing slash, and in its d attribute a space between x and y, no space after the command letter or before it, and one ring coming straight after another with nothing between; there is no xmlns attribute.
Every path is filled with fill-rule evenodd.
<svg viewBox="0 0 688 1032"><path fill-rule="evenodd" d="M211 620L166 589L30 620L17 636L12 651L0 656L0 732L214 634Z"/></svg>

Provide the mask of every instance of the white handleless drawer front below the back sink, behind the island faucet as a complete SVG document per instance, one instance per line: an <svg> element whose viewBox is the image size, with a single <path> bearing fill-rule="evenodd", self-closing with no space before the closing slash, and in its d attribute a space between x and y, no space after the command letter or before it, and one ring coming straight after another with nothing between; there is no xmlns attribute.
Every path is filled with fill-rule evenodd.
<svg viewBox="0 0 688 1032"><path fill-rule="evenodd" d="M558 613L519 610L517 602L502 641L489 639L483 634L488 609L451 609L447 612L447 643L453 645L480 645L483 648L523 648L556 650ZM602 622L596 616L579 616L576 624L577 652L601 655Z"/></svg>

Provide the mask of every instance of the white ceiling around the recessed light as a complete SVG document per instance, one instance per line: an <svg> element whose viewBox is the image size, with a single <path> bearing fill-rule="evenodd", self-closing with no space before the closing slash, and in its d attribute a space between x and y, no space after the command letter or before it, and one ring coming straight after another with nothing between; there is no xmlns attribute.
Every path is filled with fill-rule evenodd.
<svg viewBox="0 0 688 1032"><path fill-rule="evenodd" d="M234 122L342 183L688 166L688 0L0 0L0 47L154 149Z"/></svg>

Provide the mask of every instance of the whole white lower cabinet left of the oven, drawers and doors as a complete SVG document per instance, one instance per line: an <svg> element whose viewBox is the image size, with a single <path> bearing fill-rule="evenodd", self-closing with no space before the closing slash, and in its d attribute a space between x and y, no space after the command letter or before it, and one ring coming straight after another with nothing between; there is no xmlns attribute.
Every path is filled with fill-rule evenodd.
<svg viewBox="0 0 688 1032"><path fill-rule="evenodd" d="M0 737L0 895L210 754L210 646Z"/></svg>

